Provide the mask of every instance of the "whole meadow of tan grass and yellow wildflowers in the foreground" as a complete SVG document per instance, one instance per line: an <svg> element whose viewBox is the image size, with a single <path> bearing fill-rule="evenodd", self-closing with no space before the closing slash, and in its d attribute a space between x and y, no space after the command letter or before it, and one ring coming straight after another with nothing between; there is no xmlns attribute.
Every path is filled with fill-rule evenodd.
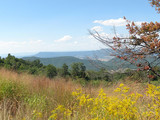
<svg viewBox="0 0 160 120"><path fill-rule="evenodd" d="M1 120L158 120L160 87L132 81L114 83L49 79L0 69Z"/></svg>

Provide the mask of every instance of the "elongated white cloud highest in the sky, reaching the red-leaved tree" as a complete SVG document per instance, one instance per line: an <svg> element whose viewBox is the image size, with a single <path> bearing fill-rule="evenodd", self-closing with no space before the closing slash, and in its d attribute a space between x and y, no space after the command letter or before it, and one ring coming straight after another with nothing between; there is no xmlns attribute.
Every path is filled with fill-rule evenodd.
<svg viewBox="0 0 160 120"><path fill-rule="evenodd" d="M109 20L95 20L93 23L99 23L105 26L125 26L127 24L126 20L123 18L119 19L109 19ZM136 25L141 25L142 21L135 22Z"/></svg>

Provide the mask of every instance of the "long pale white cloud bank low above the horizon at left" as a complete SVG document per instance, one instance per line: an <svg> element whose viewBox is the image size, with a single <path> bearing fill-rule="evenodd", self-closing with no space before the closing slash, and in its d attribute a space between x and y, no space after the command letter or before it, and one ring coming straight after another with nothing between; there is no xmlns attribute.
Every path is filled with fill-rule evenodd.
<svg viewBox="0 0 160 120"><path fill-rule="evenodd" d="M77 36L69 42L48 42L46 40L2 41L0 54L37 53L41 51L81 51L100 49L101 43L88 36Z"/></svg>

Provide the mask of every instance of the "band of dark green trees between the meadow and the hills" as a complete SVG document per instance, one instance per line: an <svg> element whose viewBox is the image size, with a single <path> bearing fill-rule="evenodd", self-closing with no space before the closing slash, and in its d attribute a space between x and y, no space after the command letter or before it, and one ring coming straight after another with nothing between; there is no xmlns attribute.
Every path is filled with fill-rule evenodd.
<svg viewBox="0 0 160 120"><path fill-rule="evenodd" d="M18 73L26 72L32 75L41 75L53 78L55 76L60 77L72 77L73 79L85 79L85 80L104 80L104 81L119 81L125 77L130 77L136 81L146 81L146 73L142 71L135 71L127 69L124 72L109 73L106 69L102 68L99 71L86 70L84 63L72 63L71 66L63 64L61 68L56 68L53 65L43 65L41 60L33 59L33 61L26 61L23 59L15 58L8 54L6 58L0 58L0 66L10 70L17 71ZM155 67L155 71L159 72L159 68ZM152 75L153 73L149 73ZM152 80L158 80L158 77L154 77Z"/></svg>

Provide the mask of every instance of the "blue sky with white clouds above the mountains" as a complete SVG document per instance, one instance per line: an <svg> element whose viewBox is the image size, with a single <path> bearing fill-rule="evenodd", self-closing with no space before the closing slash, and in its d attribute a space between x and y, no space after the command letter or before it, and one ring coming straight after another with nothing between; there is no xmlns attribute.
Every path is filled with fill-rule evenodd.
<svg viewBox="0 0 160 120"><path fill-rule="evenodd" d="M148 0L0 0L0 54L105 48L88 30L127 34L123 17L158 21Z"/></svg>

